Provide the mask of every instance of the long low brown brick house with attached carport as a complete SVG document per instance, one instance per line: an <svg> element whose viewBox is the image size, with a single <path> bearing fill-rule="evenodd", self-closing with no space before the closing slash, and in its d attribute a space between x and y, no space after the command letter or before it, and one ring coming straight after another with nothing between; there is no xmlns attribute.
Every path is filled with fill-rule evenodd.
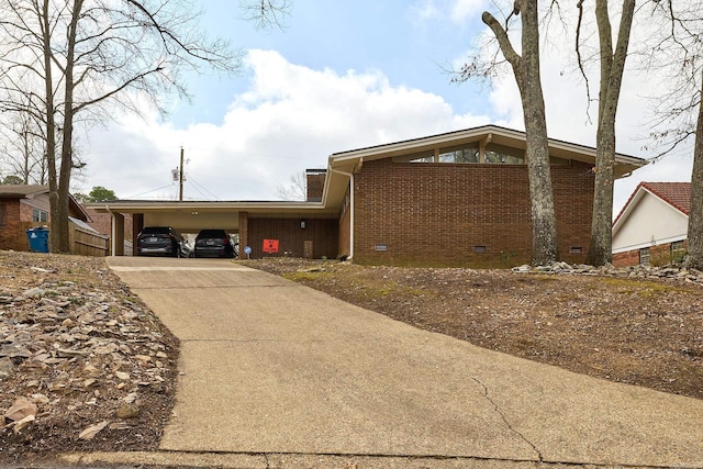
<svg viewBox="0 0 703 469"><path fill-rule="evenodd" d="M560 255L582 263L590 241L595 149L550 139L549 155ZM617 154L615 177L645 163ZM528 187L525 133L487 125L333 154L326 169L308 171L304 202L89 205L111 213L113 226L132 214L130 237L146 225L171 225L182 233L226 228L238 233L252 258L509 267L531 260Z"/></svg>

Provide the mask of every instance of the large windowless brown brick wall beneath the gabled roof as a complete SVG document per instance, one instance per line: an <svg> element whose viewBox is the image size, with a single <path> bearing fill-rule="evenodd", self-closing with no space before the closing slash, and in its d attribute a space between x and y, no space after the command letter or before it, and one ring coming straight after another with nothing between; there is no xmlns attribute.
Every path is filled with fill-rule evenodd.
<svg viewBox="0 0 703 469"><path fill-rule="evenodd" d="M585 259L590 168L551 167L559 249L570 263ZM531 259L525 166L368 161L355 175L354 202L354 259L360 264L510 267ZM478 246L484 253L475 252ZM582 254L569 254L572 246Z"/></svg>

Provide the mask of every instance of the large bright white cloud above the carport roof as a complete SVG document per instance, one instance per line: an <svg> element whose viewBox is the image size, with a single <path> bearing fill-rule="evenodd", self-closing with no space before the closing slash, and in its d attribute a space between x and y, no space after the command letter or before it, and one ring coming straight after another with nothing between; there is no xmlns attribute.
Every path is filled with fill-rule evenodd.
<svg viewBox="0 0 703 469"><path fill-rule="evenodd" d="M93 134L87 190L104 186L123 199L147 192L172 199L178 188L170 170L183 146L185 198L270 200L277 185L306 168L325 168L332 153L489 122L455 115L439 96L393 86L380 71L314 70L271 51L250 51L247 69L250 85L221 124L175 129L150 114Z"/></svg>

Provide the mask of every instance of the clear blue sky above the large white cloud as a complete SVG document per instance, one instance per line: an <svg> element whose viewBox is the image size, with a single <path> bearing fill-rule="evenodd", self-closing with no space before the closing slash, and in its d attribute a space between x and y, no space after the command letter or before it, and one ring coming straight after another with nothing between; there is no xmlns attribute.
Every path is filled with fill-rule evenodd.
<svg viewBox="0 0 703 469"><path fill-rule="evenodd" d="M450 10L446 7L450 2L443 2L443 11L432 2L297 1L291 14L283 18L284 27L268 30L257 30L233 1L200 3L208 31L230 38L237 48L277 51L295 65L331 69L338 75L380 71L392 86L442 96L459 113L487 104L475 83L451 83L446 72L451 62L465 54L476 33L484 29L477 15L457 15L456 22L447 23ZM190 83L196 96L193 105L178 107L171 116L174 123L217 123L228 100L244 92L248 82L246 74L234 79L194 79Z"/></svg>

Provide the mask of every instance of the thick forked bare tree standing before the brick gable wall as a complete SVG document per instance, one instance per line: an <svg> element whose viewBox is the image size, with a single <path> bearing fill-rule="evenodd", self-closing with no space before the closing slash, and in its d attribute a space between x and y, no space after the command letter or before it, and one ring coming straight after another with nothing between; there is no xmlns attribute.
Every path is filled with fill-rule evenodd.
<svg viewBox="0 0 703 469"><path fill-rule="evenodd" d="M522 55L513 47L507 26L513 16L522 19ZM550 264L559 259L557 221L551 189L545 101L539 72L539 18L537 0L516 0L505 26L491 13L483 12L483 22L491 29L500 51L511 65L523 105L526 133L526 160L532 200L532 263ZM464 66L459 80L488 78L496 60L481 63L475 58Z"/></svg>

